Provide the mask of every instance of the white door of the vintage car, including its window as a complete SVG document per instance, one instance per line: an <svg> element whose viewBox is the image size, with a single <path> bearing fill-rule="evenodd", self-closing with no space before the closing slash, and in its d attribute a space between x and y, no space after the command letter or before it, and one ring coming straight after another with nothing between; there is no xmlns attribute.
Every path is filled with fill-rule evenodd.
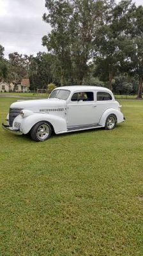
<svg viewBox="0 0 143 256"><path fill-rule="evenodd" d="M94 92L75 92L67 104L67 127L86 127L94 125L96 118Z"/></svg>

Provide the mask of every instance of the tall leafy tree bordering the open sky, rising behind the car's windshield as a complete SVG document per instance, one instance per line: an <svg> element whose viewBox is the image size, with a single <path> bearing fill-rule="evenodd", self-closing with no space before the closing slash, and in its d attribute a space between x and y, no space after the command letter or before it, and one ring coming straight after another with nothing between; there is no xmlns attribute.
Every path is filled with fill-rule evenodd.
<svg viewBox="0 0 143 256"><path fill-rule="evenodd" d="M69 1L45 0L49 14L44 13L43 20L52 26L48 36L43 36L43 45L47 46L51 54L57 56L61 76L61 85L64 85L72 70L70 59L69 24L72 8Z"/></svg>

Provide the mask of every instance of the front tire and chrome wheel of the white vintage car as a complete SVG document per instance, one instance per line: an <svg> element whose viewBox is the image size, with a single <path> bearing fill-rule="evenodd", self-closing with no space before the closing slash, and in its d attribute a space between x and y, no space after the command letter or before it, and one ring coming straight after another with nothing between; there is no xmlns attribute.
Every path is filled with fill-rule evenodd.
<svg viewBox="0 0 143 256"><path fill-rule="evenodd" d="M47 122L38 122L31 129L31 139L34 141L45 141L50 138L52 133L52 127Z"/></svg>

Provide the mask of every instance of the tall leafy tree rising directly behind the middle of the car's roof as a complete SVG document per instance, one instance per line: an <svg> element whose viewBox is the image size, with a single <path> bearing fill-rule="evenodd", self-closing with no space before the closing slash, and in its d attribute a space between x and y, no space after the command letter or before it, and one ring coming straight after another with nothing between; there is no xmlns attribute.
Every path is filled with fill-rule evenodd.
<svg viewBox="0 0 143 256"><path fill-rule="evenodd" d="M77 83L82 84L89 71L87 61L92 57L93 38L97 28L103 24L107 1L75 0L72 8L70 35L74 76Z"/></svg>

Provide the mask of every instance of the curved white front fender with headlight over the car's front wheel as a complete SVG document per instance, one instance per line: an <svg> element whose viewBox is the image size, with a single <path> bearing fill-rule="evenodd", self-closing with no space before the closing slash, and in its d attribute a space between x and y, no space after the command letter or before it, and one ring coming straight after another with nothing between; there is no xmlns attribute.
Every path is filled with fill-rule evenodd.
<svg viewBox="0 0 143 256"><path fill-rule="evenodd" d="M52 124L54 131L56 133L66 131L66 120L60 116L49 115L45 113L33 113L26 117L17 116L14 120L15 122L20 122L20 131L27 134L31 128L38 122L46 121Z"/></svg>

